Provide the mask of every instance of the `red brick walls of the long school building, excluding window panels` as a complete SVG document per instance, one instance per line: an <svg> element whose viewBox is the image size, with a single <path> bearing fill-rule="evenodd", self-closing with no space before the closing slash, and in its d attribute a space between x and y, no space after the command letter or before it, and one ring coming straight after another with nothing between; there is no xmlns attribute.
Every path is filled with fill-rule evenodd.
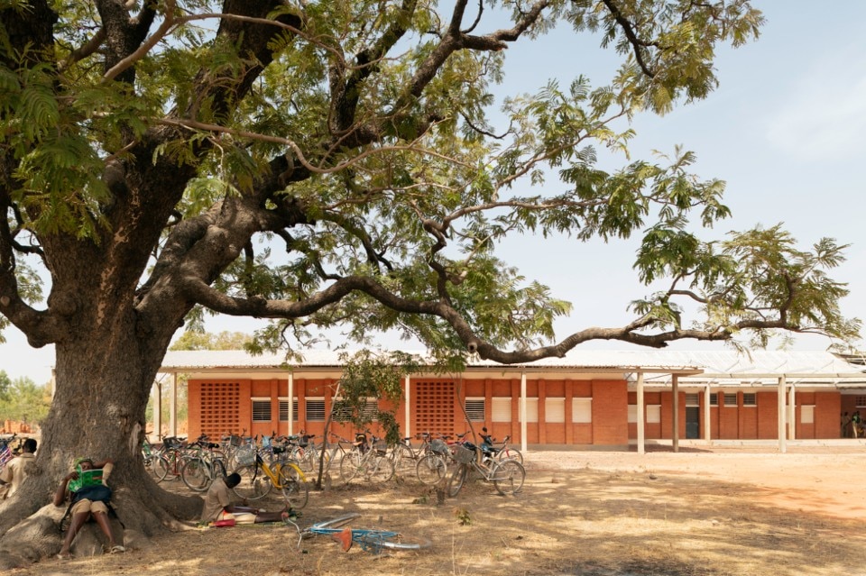
<svg viewBox="0 0 866 576"><path fill-rule="evenodd" d="M410 389L413 391L420 381L412 380ZM221 394L217 384L232 383L237 388L237 403L232 407L221 407L213 397L207 394ZM308 434L321 434L324 422L306 421L305 398L325 398L326 414L331 409L334 391L334 379L295 379L294 395L299 398L299 421L294 423L294 432L304 429ZM279 422L279 401L288 389L286 379L232 379L215 382L206 379L189 380L189 437L198 437L202 432L222 435L226 432L241 434L270 435L276 431L285 434L288 425ZM215 392L216 390L216 392ZM486 426L497 439L511 436L512 443L521 443L521 425L518 418L519 398L521 394L520 379L464 379L461 384L461 396L456 398L453 416L449 416L451 429L433 430L432 432L453 434L462 433L468 429L460 404L466 396L485 398L484 422L475 422L476 432ZM716 394L716 392L714 392ZM629 438L637 436L637 425L628 423L628 406L636 404L635 393L628 392L624 380L567 380L567 379L530 379L527 380L527 395L539 398L539 421L545 418L545 398L565 398L565 422L528 423L528 443L556 444L595 444L624 445ZM267 423L252 422L251 398L272 398L272 420ZM510 397L511 422L493 422L493 398ZM453 397L452 397L453 398ZM592 398L592 423L577 424L572 422L572 403L574 398ZM778 434L776 390L757 393L757 406L743 407L742 393L737 395L737 405L723 406L724 399L719 398L722 406L710 408L710 429L714 439L775 439ZM669 392L648 392L644 398L645 406L661 406L661 422L647 424L645 433L648 439L671 437L672 397ZM704 437L705 415L703 404L705 395L700 394L700 437ZM800 406L809 404L815 406L815 423L804 425L801 422ZM797 438L837 438L839 437L840 413L853 412L856 409L853 396L841 396L838 392L797 393ZM384 403L382 404L384 406ZM686 402L685 393L680 393L679 437L686 435ZM207 412L207 413L206 413ZM401 428L405 429L405 408L397 407L396 412ZM416 415L412 413L412 432L419 429ZM236 424L232 424L232 423ZM448 424L445 425L447 427ZM348 436L353 432L349 425L334 425L337 434ZM378 429L374 432L379 432Z"/></svg>

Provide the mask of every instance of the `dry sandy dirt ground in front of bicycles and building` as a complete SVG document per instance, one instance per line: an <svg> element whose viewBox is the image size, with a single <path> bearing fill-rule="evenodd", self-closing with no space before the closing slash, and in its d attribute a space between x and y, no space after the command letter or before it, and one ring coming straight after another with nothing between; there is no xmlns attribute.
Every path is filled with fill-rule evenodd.
<svg viewBox="0 0 866 576"><path fill-rule="evenodd" d="M311 492L299 519L308 526L359 512L355 527L421 535L433 543L427 551L344 553L327 536L299 545L289 526L237 526L12 573L866 576L862 446L536 451L526 468L516 496L479 480L440 505L416 480L380 489L335 483Z"/></svg>

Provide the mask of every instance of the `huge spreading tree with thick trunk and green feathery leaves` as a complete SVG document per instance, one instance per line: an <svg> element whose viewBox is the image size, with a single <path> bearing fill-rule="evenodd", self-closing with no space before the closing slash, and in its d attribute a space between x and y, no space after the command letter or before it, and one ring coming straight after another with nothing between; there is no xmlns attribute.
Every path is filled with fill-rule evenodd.
<svg viewBox="0 0 866 576"><path fill-rule="evenodd" d="M57 355L37 470L0 534L42 526L79 454L115 460L127 529L194 513L138 446L163 354L203 310L273 319L263 346L342 325L501 362L598 338L854 334L825 273L842 247L802 251L778 227L702 242L728 209L690 153L597 160L627 151L631 114L707 96L717 44L761 22L748 0L0 3L0 327ZM539 78L494 116L508 53L557 24L622 55L611 84ZM667 288L557 342L569 306L497 258L510 233L642 233L640 279Z"/></svg>

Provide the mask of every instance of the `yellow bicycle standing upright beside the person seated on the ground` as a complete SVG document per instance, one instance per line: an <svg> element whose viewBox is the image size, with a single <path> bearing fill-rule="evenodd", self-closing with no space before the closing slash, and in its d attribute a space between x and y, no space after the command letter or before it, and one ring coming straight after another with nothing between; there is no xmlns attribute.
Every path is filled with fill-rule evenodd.
<svg viewBox="0 0 866 576"><path fill-rule="evenodd" d="M240 484L234 488L235 494L240 498L247 500L264 498L271 489L275 488L282 491L282 497L292 508L299 510L307 506L309 499L307 476L296 462L277 460L267 463L258 452L255 452L246 462L248 463L235 470L241 475Z"/></svg>

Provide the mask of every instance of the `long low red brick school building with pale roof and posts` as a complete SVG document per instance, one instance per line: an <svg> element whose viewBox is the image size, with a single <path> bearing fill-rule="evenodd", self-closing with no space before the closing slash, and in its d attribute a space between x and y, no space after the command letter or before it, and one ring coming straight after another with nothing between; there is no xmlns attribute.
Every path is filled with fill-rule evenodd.
<svg viewBox="0 0 866 576"><path fill-rule="evenodd" d="M844 414L866 416L866 372L831 352L572 351L527 364L471 362L463 373L405 377L401 431L455 434L471 422L524 448L585 446L643 452L652 440L838 439ZM189 437L322 434L342 373L337 352L303 360L238 351L169 352L154 387L172 399L188 379ZM370 407L377 407L370 399ZM160 402L154 403L157 407ZM162 415L154 415L160 429ZM352 434L332 425L337 434Z"/></svg>

